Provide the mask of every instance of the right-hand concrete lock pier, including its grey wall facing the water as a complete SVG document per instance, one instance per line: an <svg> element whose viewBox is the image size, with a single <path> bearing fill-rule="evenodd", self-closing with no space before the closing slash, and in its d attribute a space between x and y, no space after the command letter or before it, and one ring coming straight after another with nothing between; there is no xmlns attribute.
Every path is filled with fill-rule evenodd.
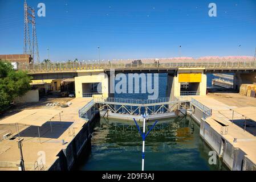
<svg viewBox="0 0 256 182"><path fill-rule="evenodd" d="M256 122L250 122L251 127L244 130L245 117L233 114L231 110L236 106L226 105L209 96L193 98L212 109L212 115L204 118L202 110L192 106L192 117L200 125L200 135L205 142L230 170L256 170Z"/></svg>

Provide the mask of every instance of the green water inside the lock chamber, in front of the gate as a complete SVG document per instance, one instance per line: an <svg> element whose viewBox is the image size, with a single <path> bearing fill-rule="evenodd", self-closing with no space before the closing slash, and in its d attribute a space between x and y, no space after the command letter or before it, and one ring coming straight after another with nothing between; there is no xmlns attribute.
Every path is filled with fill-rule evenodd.
<svg viewBox="0 0 256 182"><path fill-rule="evenodd" d="M157 123L145 142L145 170L225 170L219 159L208 164L210 148L199 133L190 117ZM142 139L133 122L100 119L91 143L80 170L141 170Z"/></svg>

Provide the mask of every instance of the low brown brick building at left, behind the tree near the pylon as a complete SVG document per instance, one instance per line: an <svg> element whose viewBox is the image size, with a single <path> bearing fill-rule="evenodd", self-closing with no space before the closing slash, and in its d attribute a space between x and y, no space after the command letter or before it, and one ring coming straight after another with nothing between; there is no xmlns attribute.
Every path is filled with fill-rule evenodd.
<svg viewBox="0 0 256 182"><path fill-rule="evenodd" d="M23 64L23 63L32 63L32 57L31 55L0 55L0 61L1 60L6 60L9 61L10 63L18 63L18 64Z"/></svg>

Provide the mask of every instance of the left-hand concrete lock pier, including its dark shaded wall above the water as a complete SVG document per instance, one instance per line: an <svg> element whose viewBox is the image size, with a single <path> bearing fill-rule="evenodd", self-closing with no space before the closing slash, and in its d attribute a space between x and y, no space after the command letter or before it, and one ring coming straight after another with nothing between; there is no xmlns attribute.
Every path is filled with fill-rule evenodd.
<svg viewBox="0 0 256 182"><path fill-rule="evenodd" d="M26 170L70 170L74 167L82 150L90 148L95 113L88 111L88 122L78 116L78 110L90 101L91 98L71 100L69 107L62 108L61 121L59 116L52 119L52 132L49 123L40 127L40 140L36 127L19 127L20 137L24 138L22 150ZM0 127L15 131L11 125ZM0 170L18 170L18 134L14 132L13 137L0 142Z"/></svg>

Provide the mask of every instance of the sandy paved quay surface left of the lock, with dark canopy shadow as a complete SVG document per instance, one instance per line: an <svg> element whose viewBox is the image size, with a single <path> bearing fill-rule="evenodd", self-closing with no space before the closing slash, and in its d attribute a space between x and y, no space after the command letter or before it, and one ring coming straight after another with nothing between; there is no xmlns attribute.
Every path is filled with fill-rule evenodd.
<svg viewBox="0 0 256 182"><path fill-rule="evenodd" d="M51 166L56 159L58 152L67 146L68 142L72 140L74 135L77 134L84 125L85 121L78 117L78 110L89 101L91 101L91 98L74 98L71 100L72 104L69 107L51 107L50 109L62 109L61 122L59 115L57 115L51 120L52 132L50 129L50 122L47 122L40 127L40 140L38 137L38 127L23 126L19 128L21 131L20 137L24 138L22 149L26 170L33 170L34 163L36 160L40 159L40 155L42 154L45 154L46 156L44 169ZM44 109L46 108L46 106L43 107ZM14 126L0 125L0 130L12 130L14 137L18 138ZM14 140L2 140L0 142L0 170L17 170L17 167L15 167L19 160L17 138ZM62 145L62 139L65 140L65 145Z"/></svg>

